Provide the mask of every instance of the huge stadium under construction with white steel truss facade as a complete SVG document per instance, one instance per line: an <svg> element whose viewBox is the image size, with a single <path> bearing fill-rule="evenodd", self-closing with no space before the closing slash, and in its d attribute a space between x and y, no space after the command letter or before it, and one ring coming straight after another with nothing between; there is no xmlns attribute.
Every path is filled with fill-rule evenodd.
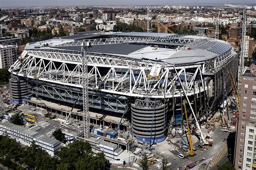
<svg viewBox="0 0 256 170"><path fill-rule="evenodd" d="M82 53L87 49L91 131L125 131L160 143L175 126L198 128L214 114L237 77L232 45L206 37L164 33L89 33L25 47L9 69L12 102L83 119ZM230 75L228 75L230 74ZM92 132L93 133L93 132Z"/></svg>

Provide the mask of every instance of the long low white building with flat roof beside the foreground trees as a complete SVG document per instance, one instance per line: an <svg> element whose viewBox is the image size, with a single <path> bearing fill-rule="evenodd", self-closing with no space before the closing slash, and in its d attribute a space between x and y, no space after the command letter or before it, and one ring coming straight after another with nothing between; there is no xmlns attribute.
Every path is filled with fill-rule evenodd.
<svg viewBox="0 0 256 170"><path fill-rule="evenodd" d="M0 134L7 134L11 138L26 146L30 146L32 141L35 141L36 145L40 146L42 150L45 150L50 155L54 155L56 151L60 151L59 140L9 122L0 123Z"/></svg>

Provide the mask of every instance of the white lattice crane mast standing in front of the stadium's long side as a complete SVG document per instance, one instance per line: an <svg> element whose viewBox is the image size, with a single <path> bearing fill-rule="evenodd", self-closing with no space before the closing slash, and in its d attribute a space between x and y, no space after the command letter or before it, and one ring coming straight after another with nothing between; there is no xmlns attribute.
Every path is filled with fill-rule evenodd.
<svg viewBox="0 0 256 170"><path fill-rule="evenodd" d="M82 84L83 84L83 124L84 124L84 139L90 138L90 113L89 113L89 94L88 94L88 59L87 59L87 47L90 47L90 43L86 45L82 44Z"/></svg>

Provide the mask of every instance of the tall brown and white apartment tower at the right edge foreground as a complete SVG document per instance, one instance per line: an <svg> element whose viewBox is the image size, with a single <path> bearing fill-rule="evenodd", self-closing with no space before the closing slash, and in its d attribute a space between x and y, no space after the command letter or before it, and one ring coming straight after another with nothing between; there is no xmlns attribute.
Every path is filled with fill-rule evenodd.
<svg viewBox="0 0 256 170"><path fill-rule="evenodd" d="M235 169L256 169L256 66L242 75Z"/></svg>

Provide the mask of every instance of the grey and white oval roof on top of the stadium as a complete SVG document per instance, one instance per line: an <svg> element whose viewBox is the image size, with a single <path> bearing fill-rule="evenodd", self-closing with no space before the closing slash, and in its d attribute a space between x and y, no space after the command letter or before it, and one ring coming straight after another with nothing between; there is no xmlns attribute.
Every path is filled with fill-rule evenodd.
<svg viewBox="0 0 256 170"><path fill-rule="evenodd" d="M91 53L109 54L139 61L157 60L167 65L190 65L212 60L218 56L224 56L222 59L225 60L234 51L232 45L225 41L206 37L138 32L77 34L37 42L26 46L25 49L80 52L80 46L84 41L92 42L92 48L88 49Z"/></svg>

